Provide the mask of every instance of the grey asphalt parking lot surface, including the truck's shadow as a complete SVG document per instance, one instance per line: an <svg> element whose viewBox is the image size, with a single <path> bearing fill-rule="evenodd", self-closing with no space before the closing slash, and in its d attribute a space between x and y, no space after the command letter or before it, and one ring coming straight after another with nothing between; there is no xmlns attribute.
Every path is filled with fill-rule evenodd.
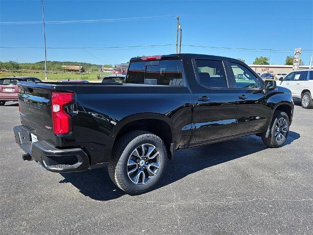
<svg viewBox="0 0 313 235"><path fill-rule="evenodd" d="M313 234L313 110L287 143L248 136L179 150L158 188L130 196L106 168L52 173L22 161L16 102L0 107L0 234Z"/></svg>

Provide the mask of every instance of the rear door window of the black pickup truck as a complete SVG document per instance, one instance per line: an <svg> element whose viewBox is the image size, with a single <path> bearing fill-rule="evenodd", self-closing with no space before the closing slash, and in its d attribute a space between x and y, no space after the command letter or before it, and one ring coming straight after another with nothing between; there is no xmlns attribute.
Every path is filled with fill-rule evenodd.
<svg viewBox="0 0 313 235"><path fill-rule="evenodd" d="M227 88L227 79L222 61L196 59L199 83L205 87Z"/></svg>

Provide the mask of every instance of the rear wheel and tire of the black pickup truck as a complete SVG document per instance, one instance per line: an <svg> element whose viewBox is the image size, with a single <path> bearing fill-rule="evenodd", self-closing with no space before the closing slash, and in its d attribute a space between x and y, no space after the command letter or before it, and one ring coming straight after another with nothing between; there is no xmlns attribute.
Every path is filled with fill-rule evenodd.
<svg viewBox="0 0 313 235"><path fill-rule="evenodd" d="M114 144L108 170L118 188L134 195L156 186L166 162L166 148L158 136L147 131L132 131Z"/></svg>

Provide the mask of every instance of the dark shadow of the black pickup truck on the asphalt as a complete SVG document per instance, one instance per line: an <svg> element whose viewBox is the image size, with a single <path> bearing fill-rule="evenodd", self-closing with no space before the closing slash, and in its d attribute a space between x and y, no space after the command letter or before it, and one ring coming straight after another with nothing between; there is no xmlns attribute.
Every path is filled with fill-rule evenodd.
<svg viewBox="0 0 313 235"><path fill-rule="evenodd" d="M298 133L290 131L285 145L300 138ZM248 143L248 144L247 144ZM232 161L246 155L267 149L260 137L246 136L234 140L212 143L209 145L181 149L169 160L163 179L156 188L176 182L189 174L213 165ZM60 183L71 183L82 194L93 200L108 201L119 198L126 193L117 188L111 181L107 168L85 172L61 173L65 178Z"/></svg>

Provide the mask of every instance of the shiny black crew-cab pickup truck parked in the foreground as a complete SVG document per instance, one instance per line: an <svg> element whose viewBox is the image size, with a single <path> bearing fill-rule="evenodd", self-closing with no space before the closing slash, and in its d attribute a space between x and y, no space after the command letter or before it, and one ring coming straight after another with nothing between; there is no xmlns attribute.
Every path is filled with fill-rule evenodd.
<svg viewBox="0 0 313 235"><path fill-rule="evenodd" d="M130 194L154 187L177 149L251 134L280 147L293 113L290 90L211 55L132 58L124 83L18 86L23 160L54 172L108 165Z"/></svg>

